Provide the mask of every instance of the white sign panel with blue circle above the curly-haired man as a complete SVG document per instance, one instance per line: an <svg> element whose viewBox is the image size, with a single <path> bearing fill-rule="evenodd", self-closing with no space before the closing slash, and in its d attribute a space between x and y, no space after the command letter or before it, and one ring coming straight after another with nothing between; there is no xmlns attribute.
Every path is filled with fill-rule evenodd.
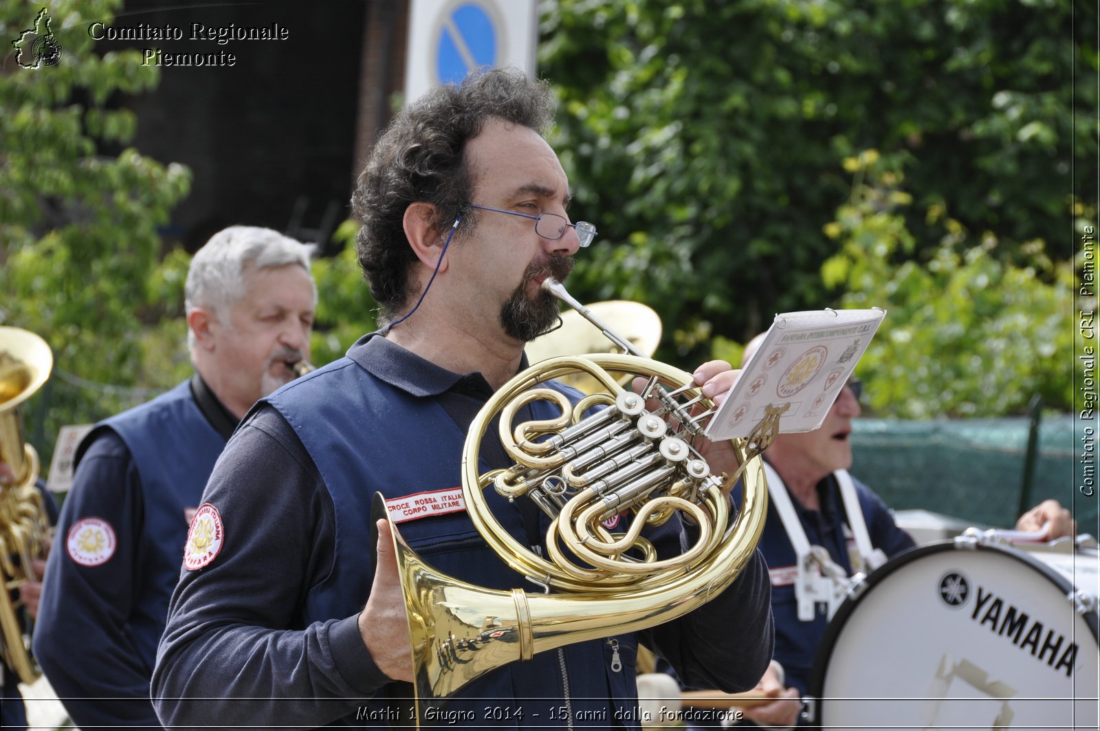
<svg viewBox="0 0 1100 731"><path fill-rule="evenodd" d="M537 39L536 0L413 0L406 98L475 68L510 65L535 75Z"/></svg>

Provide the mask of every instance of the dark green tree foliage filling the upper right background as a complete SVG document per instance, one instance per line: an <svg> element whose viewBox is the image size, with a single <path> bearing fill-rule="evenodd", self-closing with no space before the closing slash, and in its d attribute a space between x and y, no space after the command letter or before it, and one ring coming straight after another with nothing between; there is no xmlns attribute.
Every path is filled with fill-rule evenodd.
<svg viewBox="0 0 1100 731"><path fill-rule="evenodd" d="M652 306L667 334L658 357L688 369L717 336L745 341L776 312L835 304L818 274L836 252L824 226L850 195L843 161L870 149L904 164L912 196L862 231L897 238L895 263L938 259L945 223L925 211L939 206L975 232L970 248L997 241L990 261L1015 269L996 282L1033 270L1053 284L1071 257L1057 232L1097 197L1087 6L542 3L540 73L561 99L553 144L574 217L600 228L571 288ZM963 257L957 276L977 266Z"/></svg>

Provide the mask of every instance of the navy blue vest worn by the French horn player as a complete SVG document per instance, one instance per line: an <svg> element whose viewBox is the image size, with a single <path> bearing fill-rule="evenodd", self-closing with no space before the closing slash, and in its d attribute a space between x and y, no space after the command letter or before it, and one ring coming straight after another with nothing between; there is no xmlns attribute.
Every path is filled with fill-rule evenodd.
<svg viewBox="0 0 1100 731"><path fill-rule="evenodd" d="M576 399L578 392L561 388ZM311 623L351 617L362 610L374 576L370 563L374 493L392 499L460 485L465 435L433 397L396 389L349 358L297 379L268 402L301 439L332 498L336 514L336 553L328 576L308 592L304 620ZM557 415L557 410L544 403L532 404L532 411L536 418ZM484 471L485 465L481 469ZM493 490L486 490L485 495L502 526L526 543L517 508ZM397 527L429 565L457 579L491 589L538 591L485 545L465 512L432 515ZM608 635L615 634L613 624L607 630ZM453 707L476 711L474 718L441 721L440 725L565 725L562 699L569 697L574 714L603 714L590 716L600 719L596 727L638 728L634 719L637 642L634 635L616 640L622 669L612 669L613 651L607 641L540 653L531 661L491 672L460 690L458 698L463 700ZM568 677L568 689L563 677ZM380 708L389 702L384 692L372 701ZM496 710L502 707L521 707L524 718ZM487 712L482 712L485 709ZM626 720L615 719L617 709Z"/></svg>

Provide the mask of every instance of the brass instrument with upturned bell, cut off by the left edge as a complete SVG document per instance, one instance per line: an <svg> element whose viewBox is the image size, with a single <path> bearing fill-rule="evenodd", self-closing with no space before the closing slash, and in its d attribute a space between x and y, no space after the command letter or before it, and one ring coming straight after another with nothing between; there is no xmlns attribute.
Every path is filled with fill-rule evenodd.
<svg viewBox="0 0 1100 731"><path fill-rule="evenodd" d="M32 558L43 558L50 542L50 521L38 479L38 454L23 439L18 406L50 378L54 357L46 341L26 330L0 327L0 461L15 473L15 482L0 487L0 655L23 683L41 675L31 653L31 621L20 611L19 588L37 581Z"/></svg>

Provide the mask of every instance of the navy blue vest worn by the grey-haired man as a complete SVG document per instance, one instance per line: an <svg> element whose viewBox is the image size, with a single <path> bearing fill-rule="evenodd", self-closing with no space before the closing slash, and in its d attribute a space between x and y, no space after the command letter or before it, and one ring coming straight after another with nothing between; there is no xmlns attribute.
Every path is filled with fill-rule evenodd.
<svg viewBox="0 0 1100 731"><path fill-rule="evenodd" d="M122 438L141 478L145 506L139 545L142 570L134 577L133 590L140 599L129 623L142 662L153 667L187 542L184 510L202 502L202 490L226 439L202 416L189 380L100 422L77 450L77 462L102 427Z"/></svg>

